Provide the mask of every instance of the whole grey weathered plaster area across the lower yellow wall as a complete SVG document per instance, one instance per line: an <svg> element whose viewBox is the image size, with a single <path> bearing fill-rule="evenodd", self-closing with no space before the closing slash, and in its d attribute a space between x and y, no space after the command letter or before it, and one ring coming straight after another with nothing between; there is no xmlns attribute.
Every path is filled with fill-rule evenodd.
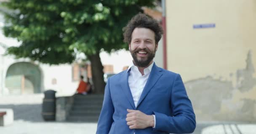
<svg viewBox="0 0 256 134"><path fill-rule="evenodd" d="M256 97L254 100L240 98L237 102L234 101L234 93L246 93L256 85L252 61L249 51L246 68L237 70L236 87L233 87L232 81L214 79L211 76L185 83L197 121L256 121Z"/></svg>

